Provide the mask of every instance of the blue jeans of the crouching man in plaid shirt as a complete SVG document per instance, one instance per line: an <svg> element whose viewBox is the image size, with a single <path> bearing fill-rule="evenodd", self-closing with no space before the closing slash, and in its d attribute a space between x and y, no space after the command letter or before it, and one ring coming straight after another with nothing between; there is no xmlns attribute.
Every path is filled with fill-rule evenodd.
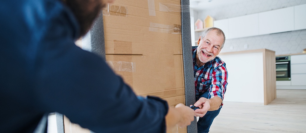
<svg viewBox="0 0 306 133"><path fill-rule="evenodd" d="M201 94L196 101L198 101L201 97L208 98L209 91ZM199 121L197 123L198 126L198 133L208 133L209 128L212 124L212 121L215 119L215 117L219 114L222 107L220 107L218 110L214 111L207 111L207 113L201 118L199 118Z"/></svg>

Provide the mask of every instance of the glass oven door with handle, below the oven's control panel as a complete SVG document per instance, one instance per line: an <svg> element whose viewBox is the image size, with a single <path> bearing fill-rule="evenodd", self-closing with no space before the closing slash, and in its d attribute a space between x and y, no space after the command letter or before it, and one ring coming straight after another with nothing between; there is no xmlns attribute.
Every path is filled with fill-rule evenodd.
<svg viewBox="0 0 306 133"><path fill-rule="evenodd" d="M291 80L290 61L276 62L276 80Z"/></svg>

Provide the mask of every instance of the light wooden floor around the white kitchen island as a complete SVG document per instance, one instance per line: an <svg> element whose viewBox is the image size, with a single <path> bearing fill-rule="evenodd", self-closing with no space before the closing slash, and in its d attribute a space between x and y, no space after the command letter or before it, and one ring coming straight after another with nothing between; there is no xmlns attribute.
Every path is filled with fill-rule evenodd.
<svg viewBox="0 0 306 133"><path fill-rule="evenodd" d="M263 103L224 102L209 133L306 133L306 90L277 90Z"/></svg>

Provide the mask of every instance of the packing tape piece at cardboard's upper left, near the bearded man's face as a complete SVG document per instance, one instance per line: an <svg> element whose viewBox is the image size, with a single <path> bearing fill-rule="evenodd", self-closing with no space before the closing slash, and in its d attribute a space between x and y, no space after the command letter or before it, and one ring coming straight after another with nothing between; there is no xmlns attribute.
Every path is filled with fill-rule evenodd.
<svg viewBox="0 0 306 133"><path fill-rule="evenodd" d="M107 4L107 7L103 9L103 16L123 16L127 17L129 13L129 10L125 6L116 6L116 5L110 5Z"/></svg>

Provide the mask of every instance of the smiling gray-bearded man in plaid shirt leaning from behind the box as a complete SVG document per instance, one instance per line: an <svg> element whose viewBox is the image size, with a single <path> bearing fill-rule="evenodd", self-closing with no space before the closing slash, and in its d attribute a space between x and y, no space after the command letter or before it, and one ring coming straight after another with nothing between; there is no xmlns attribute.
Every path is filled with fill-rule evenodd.
<svg viewBox="0 0 306 133"><path fill-rule="evenodd" d="M208 133L219 114L227 85L225 63L217 57L224 46L225 35L219 28L209 28L200 36L199 46L192 47L195 79L198 133Z"/></svg>

